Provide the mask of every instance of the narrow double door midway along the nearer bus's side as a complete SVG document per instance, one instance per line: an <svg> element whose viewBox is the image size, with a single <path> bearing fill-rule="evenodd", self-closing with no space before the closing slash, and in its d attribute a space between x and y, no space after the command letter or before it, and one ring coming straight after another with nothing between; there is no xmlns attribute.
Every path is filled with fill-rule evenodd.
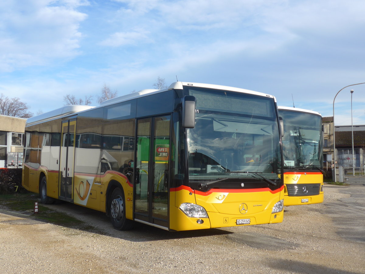
<svg viewBox="0 0 365 274"><path fill-rule="evenodd" d="M58 198L73 202L76 119L62 121Z"/></svg>

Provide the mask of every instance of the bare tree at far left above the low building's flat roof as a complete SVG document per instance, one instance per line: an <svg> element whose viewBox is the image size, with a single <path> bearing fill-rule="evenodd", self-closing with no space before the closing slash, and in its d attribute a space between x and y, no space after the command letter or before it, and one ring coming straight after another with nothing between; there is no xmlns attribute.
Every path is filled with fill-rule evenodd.
<svg viewBox="0 0 365 274"><path fill-rule="evenodd" d="M33 116L33 113L29 112L30 107L23 102L20 102L18 97L8 98L4 94L0 96L0 114L19 117L29 118Z"/></svg>

